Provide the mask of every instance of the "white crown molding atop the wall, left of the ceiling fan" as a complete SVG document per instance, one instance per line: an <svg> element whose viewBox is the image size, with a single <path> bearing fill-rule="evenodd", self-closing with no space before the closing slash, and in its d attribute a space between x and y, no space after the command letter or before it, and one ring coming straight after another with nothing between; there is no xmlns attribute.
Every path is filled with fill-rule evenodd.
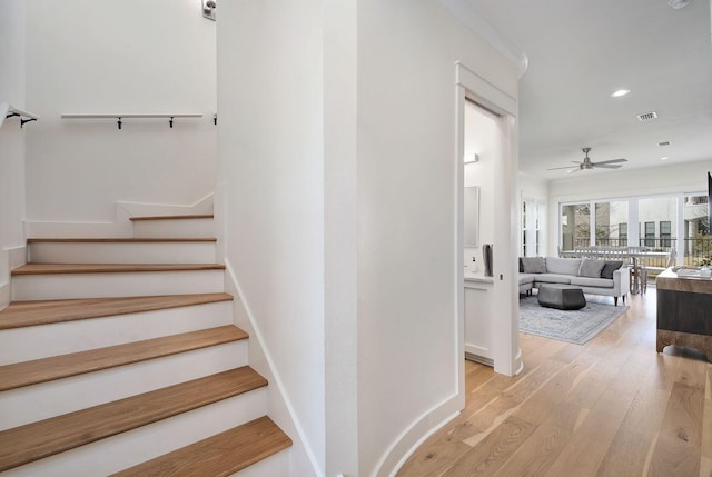
<svg viewBox="0 0 712 477"><path fill-rule="evenodd" d="M712 1L712 0L711 0ZM437 0L463 24L478 37L482 37L500 54L517 68L517 77L522 78L528 67L528 58L512 40L497 30L473 4L466 0Z"/></svg>

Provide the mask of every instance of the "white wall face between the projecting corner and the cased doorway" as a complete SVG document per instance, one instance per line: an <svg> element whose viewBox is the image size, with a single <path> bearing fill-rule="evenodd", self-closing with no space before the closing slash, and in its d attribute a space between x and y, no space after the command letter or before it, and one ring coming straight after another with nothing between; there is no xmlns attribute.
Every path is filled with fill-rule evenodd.
<svg viewBox="0 0 712 477"><path fill-rule="evenodd" d="M436 2L358 9L358 413L364 476L457 410L455 62L516 98L516 69ZM461 348L462 349L462 348Z"/></svg>

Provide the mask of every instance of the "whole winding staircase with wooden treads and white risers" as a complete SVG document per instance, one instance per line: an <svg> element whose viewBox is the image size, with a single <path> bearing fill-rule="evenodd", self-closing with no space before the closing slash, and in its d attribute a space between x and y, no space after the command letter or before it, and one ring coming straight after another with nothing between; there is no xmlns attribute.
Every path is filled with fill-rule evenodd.
<svg viewBox="0 0 712 477"><path fill-rule="evenodd" d="M285 476L211 216L30 239L0 311L1 476Z"/></svg>

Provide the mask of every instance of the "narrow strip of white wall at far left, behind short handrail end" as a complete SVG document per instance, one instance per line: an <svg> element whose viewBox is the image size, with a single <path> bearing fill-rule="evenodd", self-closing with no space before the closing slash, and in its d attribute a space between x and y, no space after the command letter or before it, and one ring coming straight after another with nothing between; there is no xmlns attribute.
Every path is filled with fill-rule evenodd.
<svg viewBox="0 0 712 477"><path fill-rule="evenodd" d="M24 1L0 2L0 102L28 109L24 100ZM10 249L23 246L24 138L18 118L0 128L0 309L10 300Z"/></svg>

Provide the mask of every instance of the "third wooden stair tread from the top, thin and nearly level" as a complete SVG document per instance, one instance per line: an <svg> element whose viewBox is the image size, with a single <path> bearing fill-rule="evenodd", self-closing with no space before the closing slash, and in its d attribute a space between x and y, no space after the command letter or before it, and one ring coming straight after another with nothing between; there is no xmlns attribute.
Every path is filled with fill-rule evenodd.
<svg viewBox="0 0 712 477"><path fill-rule="evenodd" d="M132 271L225 270L221 264L27 264L12 270L13 276L49 274L111 274Z"/></svg>

